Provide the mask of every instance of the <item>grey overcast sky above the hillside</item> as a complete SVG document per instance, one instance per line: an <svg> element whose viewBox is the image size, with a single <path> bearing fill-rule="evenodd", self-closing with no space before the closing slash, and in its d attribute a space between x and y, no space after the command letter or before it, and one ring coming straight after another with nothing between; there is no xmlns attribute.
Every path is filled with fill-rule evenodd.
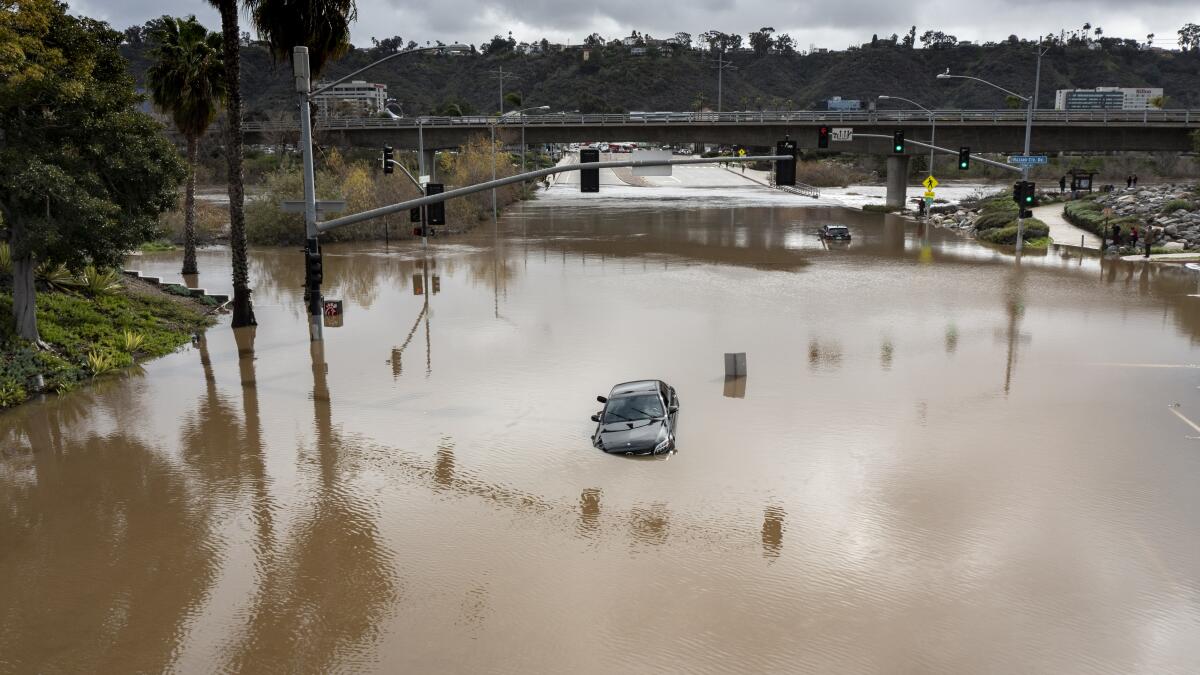
<svg viewBox="0 0 1200 675"><path fill-rule="evenodd" d="M68 0L68 4L76 13L104 19L118 29L163 13L196 14L210 29L220 29L221 23L204 0ZM800 49L810 46L842 49L870 41L871 34L881 38L893 32L904 35L913 24L918 36L935 29L959 40L985 42L1001 41L1010 34L1034 38L1090 22L1103 28L1108 36L1144 41L1153 32L1156 44L1175 47L1180 26L1200 23L1196 0L358 0L358 6L359 20L353 26L358 46L370 44L371 37L392 35L420 43L440 40L480 44L510 30L517 41L546 37L551 42L575 43L592 32L611 40L631 30L668 37L677 31L696 36L715 29L744 37L761 26L773 26L791 34ZM242 24L248 24L245 17Z"/></svg>

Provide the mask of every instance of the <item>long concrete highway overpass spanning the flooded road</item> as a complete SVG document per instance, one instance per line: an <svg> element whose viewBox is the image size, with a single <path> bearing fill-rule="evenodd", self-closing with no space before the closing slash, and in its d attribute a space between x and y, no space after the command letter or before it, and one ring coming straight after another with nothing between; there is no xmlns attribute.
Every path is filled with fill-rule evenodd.
<svg viewBox="0 0 1200 675"><path fill-rule="evenodd" d="M973 153L1019 153L1025 144L1024 110L935 110L937 145L967 145ZM851 127L857 133L929 141L929 114L920 110L868 112L738 112L629 113L584 115L551 113L504 117L421 117L400 119L347 118L317 120L319 143L377 148L384 144L415 150L458 148L473 136L488 136L494 126L506 144L636 141L647 143L738 144L768 148L791 136L800 149L812 150L817 129ZM248 143L294 142L295 121L246 121ZM1190 135L1200 130L1200 110L1037 110L1032 151L1187 151ZM888 154L889 139L858 138L832 142L830 151Z"/></svg>

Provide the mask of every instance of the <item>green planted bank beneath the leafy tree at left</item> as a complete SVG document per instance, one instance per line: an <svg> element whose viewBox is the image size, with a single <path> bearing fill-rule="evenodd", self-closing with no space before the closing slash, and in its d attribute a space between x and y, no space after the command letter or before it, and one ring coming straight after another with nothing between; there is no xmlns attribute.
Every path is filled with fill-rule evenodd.
<svg viewBox="0 0 1200 675"><path fill-rule="evenodd" d="M37 294L38 329L52 348L44 352L12 334L11 316L12 294L0 291L0 408L36 394L38 375L44 390L68 392L91 377L169 354L212 323L199 306L124 287L91 297L47 291Z"/></svg>

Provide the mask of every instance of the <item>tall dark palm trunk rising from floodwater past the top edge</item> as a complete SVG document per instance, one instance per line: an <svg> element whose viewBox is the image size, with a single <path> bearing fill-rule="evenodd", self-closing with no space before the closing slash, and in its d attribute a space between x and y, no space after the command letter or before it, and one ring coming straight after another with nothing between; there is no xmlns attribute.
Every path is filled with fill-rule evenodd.
<svg viewBox="0 0 1200 675"><path fill-rule="evenodd" d="M233 328L257 325L254 307L250 301L250 264L246 261L246 214L242 204L246 189L241 173L241 36L238 31L238 1L220 0L221 37L224 42L226 89L229 103L229 247L233 251Z"/></svg>

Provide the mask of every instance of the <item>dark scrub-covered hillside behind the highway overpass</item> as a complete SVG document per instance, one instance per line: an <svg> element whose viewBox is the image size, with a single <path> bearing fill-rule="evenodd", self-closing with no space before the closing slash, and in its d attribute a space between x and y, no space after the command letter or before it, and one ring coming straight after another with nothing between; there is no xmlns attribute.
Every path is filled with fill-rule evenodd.
<svg viewBox="0 0 1200 675"><path fill-rule="evenodd" d="M1108 42L1108 41L1105 41ZM140 82L149 66L144 47L125 47ZM329 76L367 65L380 54L355 49L334 62ZM998 108L1003 95L968 80L937 80L935 73L973 74L1025 92L1033 80L1036 56L1028 43L908 49L884 44L817 54L727 55L737 70L725 73L724 109L809 109L830 96L874 98L905 96L929 107ZM716 71L710 54L635 56L605 47L584 61L580 50L548 55L413 55L372 71L388 84L406 114L430 113L457 102L464 112L494 112L498 83L491 71L517 73L505 91L518 91L526 106L554 110L625 112L716 108ZM266 49L242 49L247 115L262 117L294 106L288 64L272 64ZM1146 50L1112 41L1103 49L1055 47L1043 59L1039 107L1054 106L1056 89L1072 86L1162 86L1168 107L1200 107L1200 54Z"/></svg>

